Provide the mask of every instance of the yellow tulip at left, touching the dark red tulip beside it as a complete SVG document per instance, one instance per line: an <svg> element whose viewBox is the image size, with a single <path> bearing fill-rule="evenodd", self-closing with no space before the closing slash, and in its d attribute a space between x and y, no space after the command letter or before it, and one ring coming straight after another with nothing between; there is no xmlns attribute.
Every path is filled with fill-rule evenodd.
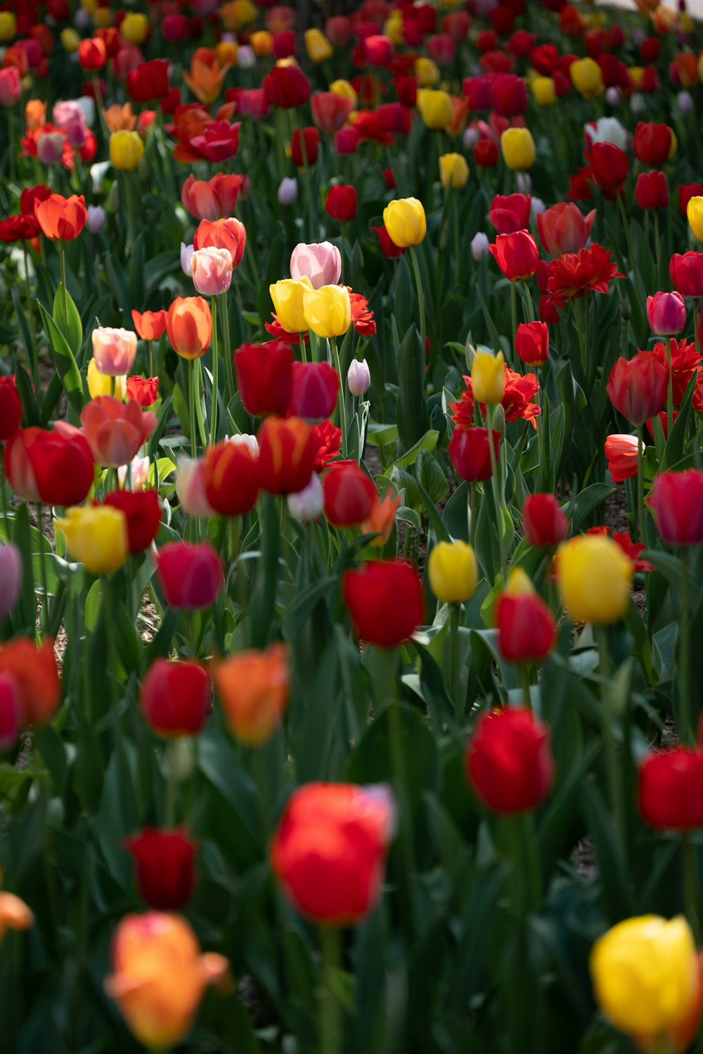
<svg viewBox="0 0 703 1054"><path fill-rule="evenodd" d="M129 551L127 518L112 505L81 505L66 509L56 521L63 531L68 554L91 574L108 574L124 563Z"/></svg>

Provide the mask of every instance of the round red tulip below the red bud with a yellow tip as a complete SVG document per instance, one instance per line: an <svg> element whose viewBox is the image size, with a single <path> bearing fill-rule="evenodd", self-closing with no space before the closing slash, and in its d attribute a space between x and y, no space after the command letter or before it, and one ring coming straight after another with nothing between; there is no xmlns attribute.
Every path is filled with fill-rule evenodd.
<svg viewBox="0 0 703 1054"><path fill-rule="evenodd" d="M466 744L464 769L474 793L493 813L537 808L554 782L549 727L531 710L484 710Z"/></svg>

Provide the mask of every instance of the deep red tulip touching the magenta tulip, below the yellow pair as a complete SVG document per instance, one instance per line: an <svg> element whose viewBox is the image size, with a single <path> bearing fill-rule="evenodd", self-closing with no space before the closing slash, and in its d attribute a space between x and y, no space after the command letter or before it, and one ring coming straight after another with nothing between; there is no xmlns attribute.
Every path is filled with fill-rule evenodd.
<svg viewBox="0 0 703 1054"><path fill-rule="evenodd" d="M285 413L293 394L289 345L284 340L243 344L235 352L235 370L237 388L247 413L254 417Z"/></svg>

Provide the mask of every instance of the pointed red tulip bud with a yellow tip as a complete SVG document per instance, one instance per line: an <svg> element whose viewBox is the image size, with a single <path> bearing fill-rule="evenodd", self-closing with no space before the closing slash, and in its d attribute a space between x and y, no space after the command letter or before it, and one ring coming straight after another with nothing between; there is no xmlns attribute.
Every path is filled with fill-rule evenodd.
<svg viewBox="0 0 703 1054"><path fill-rule="evenodd" d="M496 602L498 646L509 662L541 662L551 651L557 625L522 568L511 570Z"/></svg>

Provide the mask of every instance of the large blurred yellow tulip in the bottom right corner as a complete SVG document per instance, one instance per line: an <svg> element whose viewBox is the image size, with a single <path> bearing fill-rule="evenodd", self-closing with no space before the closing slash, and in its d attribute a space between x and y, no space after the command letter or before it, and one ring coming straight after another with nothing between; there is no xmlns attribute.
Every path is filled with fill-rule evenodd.
<svg viewBox="0 0 703 1054"><path fill-rule="evenodd" d="M589 965L596 1001L627 1035L662 1037L696 1002L696 944L681 915L619 922L596 941Z"/></svg>

